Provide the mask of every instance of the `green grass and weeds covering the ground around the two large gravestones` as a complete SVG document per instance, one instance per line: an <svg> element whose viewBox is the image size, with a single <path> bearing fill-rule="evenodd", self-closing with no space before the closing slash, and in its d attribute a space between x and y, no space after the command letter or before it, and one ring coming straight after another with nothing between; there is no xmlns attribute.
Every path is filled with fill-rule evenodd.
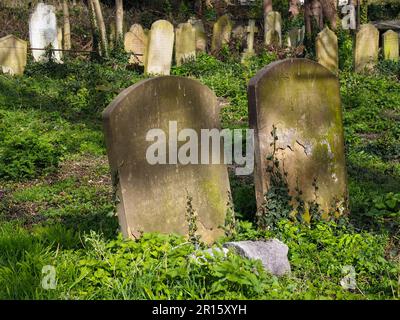
<svg viewBox="0 0 400 320"><path fill-rule="evenodd" d="M275 59L265 53L242 65L203 55L173 74L212 88L223 126L245 128L247 82ZM235 255L199 264L179 236L120 238L101 111L140 73L110 60L0 75L0 298L399 299L400 83L387 68L340 75L351 224L284 220L260 232L251 177L232 177L242 220L235 239L287 243L292 274L279 279ZM55 290L41 287L45 265L56 268ZM340 286L346 265L355 267L355 290Z"/></svg>

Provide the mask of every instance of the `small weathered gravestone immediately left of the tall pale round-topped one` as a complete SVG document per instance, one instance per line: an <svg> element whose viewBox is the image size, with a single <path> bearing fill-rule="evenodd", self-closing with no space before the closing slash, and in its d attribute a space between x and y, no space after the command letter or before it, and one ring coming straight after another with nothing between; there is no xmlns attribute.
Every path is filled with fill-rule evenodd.
<svg viewBox="0 0 400 320"><path fill-rule="evenodd" d="M148 36L140 24L134 24L124 36L124 48L131 52L129 63L143 65L146 61Z"/></svg>

